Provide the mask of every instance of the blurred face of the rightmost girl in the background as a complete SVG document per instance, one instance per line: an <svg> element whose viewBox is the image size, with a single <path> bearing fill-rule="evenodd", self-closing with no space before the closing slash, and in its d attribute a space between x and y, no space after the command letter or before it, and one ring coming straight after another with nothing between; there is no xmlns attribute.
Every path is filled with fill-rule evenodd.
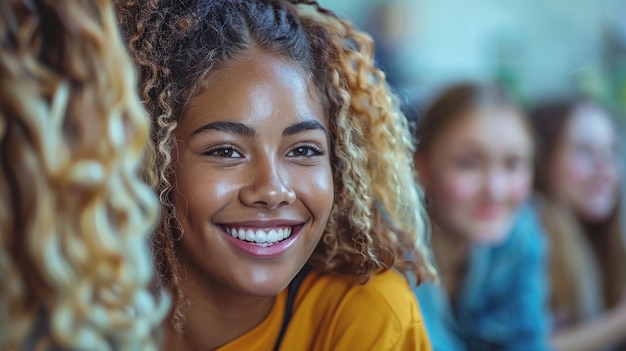
<svg viewBox="0 0 626 351"><path fill-rule="evenodd" d="M600 108L581 105L567 124L550 163L554 194L588 221L602 221L614 210L619 193L617 135Z"/></svg>

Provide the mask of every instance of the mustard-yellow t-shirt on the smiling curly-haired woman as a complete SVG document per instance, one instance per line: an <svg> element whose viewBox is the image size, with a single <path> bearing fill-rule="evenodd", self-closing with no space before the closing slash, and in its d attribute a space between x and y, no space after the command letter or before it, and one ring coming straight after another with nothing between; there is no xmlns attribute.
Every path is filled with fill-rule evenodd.
<svg viewBox="0 0 626 351"><path fill-rule="evenodd" d="M285 290L258 326L218 350L271 351L283 321L286 300ZM280 350L430 351L431 348L417 300L396 271L379 274L365 285L311 271L296 295Z"/></svg>

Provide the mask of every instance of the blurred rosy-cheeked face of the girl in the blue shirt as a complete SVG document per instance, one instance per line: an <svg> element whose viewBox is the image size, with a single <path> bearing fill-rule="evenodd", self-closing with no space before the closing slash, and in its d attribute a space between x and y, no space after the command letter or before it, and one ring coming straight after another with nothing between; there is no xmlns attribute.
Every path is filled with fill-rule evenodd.
<svg viewBox="0 0 626 351"><path fill-rule="evenodd" d="M504 238L529 192L532 150L522 116L513 109L457 116L417 155L437 225L473 242Z"/></svg>

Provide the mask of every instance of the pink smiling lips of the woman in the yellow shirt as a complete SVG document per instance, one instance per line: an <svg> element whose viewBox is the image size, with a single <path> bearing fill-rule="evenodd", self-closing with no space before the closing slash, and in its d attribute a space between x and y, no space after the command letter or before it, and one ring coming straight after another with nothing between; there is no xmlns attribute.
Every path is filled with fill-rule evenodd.
<svg viewBox="0 0 626 351"><path fill-rule="evenodd" d="M250 226L249 223L246 223L246 224L238 223L237 226L241 226L241 227ZM275 226L285 226L285 222L281 222L280 224L265 222L262 225L258 223L255 223L254 225L254 227L259 227L259 228L269 228L269 227L275 227ZM226 237L226 240L228 240L229 243L231 243L235 248L246 253L247 255L250 255L255 258L260 258L260 259L272 259L272 258L277 258L281 256L282 254L284 254L285 252L287 252L298 239L298 236L300 234L300 231L303 225L298 224L295 226L293 225L290 225L290 226L292 226L292 233L290 237L282 241L279 241L275 244L268 245L268 246L261 246L259 244L255 244L249 241L239 240L239 239L233 238L231 235L223 231L222 232L224 236Z"/></svg>

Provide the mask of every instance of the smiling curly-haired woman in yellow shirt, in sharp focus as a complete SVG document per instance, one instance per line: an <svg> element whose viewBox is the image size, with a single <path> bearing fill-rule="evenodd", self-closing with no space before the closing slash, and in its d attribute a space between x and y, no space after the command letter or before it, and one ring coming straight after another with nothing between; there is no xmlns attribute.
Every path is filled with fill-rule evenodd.
<svg viewBox="0 0 626 351"><path fill-rule="evenodd" d="M413 145L371 39L314 1L117 11L158 150L166 349L430 349L402 277L434 275Z"/></svg>

